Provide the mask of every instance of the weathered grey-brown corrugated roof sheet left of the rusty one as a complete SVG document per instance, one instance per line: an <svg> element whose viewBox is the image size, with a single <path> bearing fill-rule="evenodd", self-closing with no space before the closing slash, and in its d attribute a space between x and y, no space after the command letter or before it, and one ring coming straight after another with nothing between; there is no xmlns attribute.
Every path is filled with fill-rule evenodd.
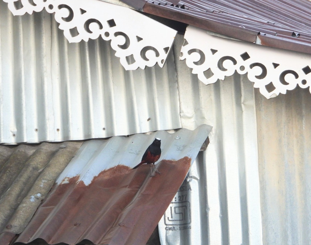
<svg viewBox="0 0 311 245"><path fill-rule="evenodd" d="M81 144L68 141L0 146L0 233L24 230Z"/></svg>

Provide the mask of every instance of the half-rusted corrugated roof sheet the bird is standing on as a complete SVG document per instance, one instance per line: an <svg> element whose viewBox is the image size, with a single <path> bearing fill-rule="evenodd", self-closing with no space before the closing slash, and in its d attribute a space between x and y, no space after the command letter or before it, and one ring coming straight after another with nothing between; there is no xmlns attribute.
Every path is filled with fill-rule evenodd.
<svg viewBox="0 0 311 245"><path fill-rule="evenodd" d="M43 238L49 244L76 244L88 239L145 245L210 130L201 125L174 134L157 131L84 142L16 242ZM155 137L161 139L157 167L162 174L152 178L148 165L132 167Z"/></svg>

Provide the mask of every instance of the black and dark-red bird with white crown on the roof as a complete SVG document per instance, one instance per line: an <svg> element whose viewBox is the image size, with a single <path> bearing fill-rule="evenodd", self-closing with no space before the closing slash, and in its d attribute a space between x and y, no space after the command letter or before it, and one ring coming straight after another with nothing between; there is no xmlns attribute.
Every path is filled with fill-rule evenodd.
<svg viewBox="0 0 311 245"><path fill-rule="evenodd" d="M160 146L161 146L161 140L159 138L156 138L152 142L152 144L149 145L149 147L146 149L144 155L142 156L142 161L138 163L138 165L134 167L133 169L139 167L140 165L144 163L150 164L150 171L151 171L150 177L155 177L155 175L152 174L151 163L156 168L155 162L158 161L161 156ZM161 174L161 172L159 172L157 168L156 168L156 172Z"/></svg>

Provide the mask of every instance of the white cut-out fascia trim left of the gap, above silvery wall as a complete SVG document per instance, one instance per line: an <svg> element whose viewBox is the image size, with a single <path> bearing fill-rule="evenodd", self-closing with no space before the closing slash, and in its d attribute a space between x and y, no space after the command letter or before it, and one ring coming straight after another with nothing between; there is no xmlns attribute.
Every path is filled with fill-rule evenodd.
<svg viewBox="0 0 311 245"><path fill-rule="evenodd" d="M132 9L100 0L3 0L14 15L45 8L69 42L111 40L126 70L164 66L177 31Z"/></svg>

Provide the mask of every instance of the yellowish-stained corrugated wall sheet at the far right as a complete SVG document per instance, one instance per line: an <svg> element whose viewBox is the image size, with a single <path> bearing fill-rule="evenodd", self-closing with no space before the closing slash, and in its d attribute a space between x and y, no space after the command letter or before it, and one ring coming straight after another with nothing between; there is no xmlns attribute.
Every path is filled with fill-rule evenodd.
<svg viewBox="0 0 311 245"><path fill-rule="evenodd" d="M263 243L311 244L311 95L255 95Z"/></svg>

